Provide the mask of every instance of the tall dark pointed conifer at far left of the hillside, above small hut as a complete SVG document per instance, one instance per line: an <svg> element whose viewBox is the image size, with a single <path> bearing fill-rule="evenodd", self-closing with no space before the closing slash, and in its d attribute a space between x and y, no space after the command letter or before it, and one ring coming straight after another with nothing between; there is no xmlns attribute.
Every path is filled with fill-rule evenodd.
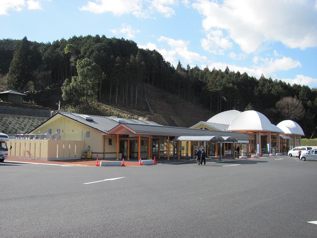
<svg viewBox="0 0 317 238"><path fill-rule="evenodd" d="M9 72L7 75L8 88L23 92L25 87L32 81L30 72L30 44L26 36L16 44L13 59L10 63Z"/></svg>

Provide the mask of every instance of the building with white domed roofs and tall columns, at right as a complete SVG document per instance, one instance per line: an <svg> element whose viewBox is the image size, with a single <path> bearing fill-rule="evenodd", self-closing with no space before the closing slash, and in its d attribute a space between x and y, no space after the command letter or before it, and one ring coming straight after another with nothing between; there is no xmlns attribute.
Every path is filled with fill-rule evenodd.
<svg viewBox="0 0 317 238"><path fill-rule="evenodd" d="M211 117L207 122L198 122L191 128L243 132L252 137L225 143L224 154L232 152L238 146L246 154L287 153L289 149L300 146L301 136L304 136L303 130L296 122L286 120L275 126L266 116L254 110L224 111Z"/></svg>

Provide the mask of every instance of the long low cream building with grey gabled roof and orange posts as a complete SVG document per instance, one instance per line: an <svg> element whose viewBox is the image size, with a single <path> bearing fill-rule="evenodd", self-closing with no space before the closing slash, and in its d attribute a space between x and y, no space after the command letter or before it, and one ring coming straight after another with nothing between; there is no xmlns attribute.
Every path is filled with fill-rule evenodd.
<svg viewBox="0 0 317 238"><path fill-rule="evenodd" d="M221 155L223 142L250 140L243 132L162 126L155 122L57 112L29 134L9 141L9 158L32 160L180 159L197 146Z"/></svg>

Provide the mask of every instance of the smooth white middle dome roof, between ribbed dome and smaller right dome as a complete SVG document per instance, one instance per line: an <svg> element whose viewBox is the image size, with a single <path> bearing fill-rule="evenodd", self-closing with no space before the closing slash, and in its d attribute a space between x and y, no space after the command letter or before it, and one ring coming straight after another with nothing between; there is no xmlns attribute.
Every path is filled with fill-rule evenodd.
<svg viewBox="0 0 317 238"><path fill-rule="evenodd" d="M249 110L237 115L228 127L228 131L269 131L283 133L262 113Z"/></svg>

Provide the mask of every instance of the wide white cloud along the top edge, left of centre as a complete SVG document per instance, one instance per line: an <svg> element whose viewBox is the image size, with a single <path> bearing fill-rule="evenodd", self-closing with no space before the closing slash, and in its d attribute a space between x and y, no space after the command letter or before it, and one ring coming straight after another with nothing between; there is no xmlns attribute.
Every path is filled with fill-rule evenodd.
<svg viewBox="0 0 317 238"><path fill-rule="evenodd" d="M175 14L171 5L177 4L177 0L95 0L95 2L88 2L79 10L93 13L112 12L115 16L133 14L142 18L151 17L154 12L159 12L164 17L171 17Z"/></svg>

